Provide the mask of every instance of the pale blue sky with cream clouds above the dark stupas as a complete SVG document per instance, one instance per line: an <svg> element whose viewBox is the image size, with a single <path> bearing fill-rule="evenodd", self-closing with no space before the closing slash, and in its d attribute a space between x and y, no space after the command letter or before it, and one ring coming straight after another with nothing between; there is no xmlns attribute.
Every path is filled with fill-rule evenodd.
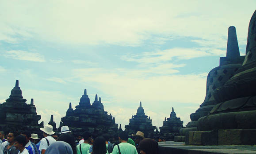
<svg viewBox="0 0 256 154"><path fill-rule="evenodd" d="M254 7L253 7L254 6ZM255 0L0 0L0 103L19 80L41 121L57 126L84 89L128 125L142 102L154 126L172 107L190 121L229 26L245 55Z"/></svg>

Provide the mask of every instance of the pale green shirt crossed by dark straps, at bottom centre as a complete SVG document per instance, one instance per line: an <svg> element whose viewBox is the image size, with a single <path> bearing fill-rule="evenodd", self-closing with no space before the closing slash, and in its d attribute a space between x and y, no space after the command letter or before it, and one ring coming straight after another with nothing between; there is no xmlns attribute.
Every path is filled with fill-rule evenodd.
<svg viewBox="0 0 256 154"><path fill-rule="evenodd" d="M121 154L138 154L136 147L134 147L130 143L119 143L118 145ZM111 154L119 154L117 145L114 147Z"/></svg>

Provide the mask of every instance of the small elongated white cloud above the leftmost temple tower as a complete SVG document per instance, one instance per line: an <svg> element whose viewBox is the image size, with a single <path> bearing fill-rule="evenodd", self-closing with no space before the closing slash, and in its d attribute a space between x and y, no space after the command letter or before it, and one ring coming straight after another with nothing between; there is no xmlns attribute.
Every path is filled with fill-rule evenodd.
<svg viewBox="0 0 256 154"><path fill-rule="evenodd" d="M4 51L3 55L11 59L27 60L32 62L45 62L44 56L39 53L32 53L22 50Z"/></svg>

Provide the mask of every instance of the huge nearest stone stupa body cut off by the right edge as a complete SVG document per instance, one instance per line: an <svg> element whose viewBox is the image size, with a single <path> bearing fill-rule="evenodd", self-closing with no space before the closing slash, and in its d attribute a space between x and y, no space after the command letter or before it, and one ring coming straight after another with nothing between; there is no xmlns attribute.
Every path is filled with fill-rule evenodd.
<svg viewBox="0 0 256 154"><path fill-rule="evenodd" d="M218 104L209 116L199 119L199 130L256 129L255 85L256 11L249 23L245 60L235 75L213 92Z"/></svg>

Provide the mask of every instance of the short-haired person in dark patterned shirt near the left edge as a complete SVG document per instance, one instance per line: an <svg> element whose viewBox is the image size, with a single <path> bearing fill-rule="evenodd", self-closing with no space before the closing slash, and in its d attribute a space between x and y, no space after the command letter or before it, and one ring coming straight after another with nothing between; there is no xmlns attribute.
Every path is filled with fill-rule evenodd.
<svg viewBox="0 0 256 154"><path fill-rule="evenodd" d="M7 141L9 144L7 144L4 147L4 154L18 154L19 150L17 150L14 147L14 139L18 136L18 133L15 131L10 131L7 137Z"/></svg>

